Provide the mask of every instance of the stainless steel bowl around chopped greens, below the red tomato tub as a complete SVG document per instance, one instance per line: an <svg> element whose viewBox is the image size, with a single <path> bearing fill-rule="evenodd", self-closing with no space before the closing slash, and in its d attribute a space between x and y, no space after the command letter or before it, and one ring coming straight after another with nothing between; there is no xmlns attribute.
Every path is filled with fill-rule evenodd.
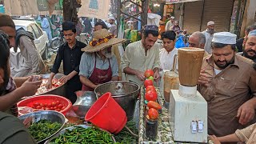
<svg viewBox="0 0 256 144"><path fill-rule="evenodd" d="M57 131L54 132L54 134L57 134L58 131L62 130L63 126L65 125L65 116L62 113L59 113L54 110L42 110L42 111L37 111L29 114L24 114L20 117L18 117L22 122L27 120L28 118L32 118L31 122L38 122L41 119L46 119L49 120L50 122L58 122L62 124L61 128ZM47 139L51 138L54 136L54 134L50 135L50 137L43 139L42 141L38 143L45 142Z"/></svg>

